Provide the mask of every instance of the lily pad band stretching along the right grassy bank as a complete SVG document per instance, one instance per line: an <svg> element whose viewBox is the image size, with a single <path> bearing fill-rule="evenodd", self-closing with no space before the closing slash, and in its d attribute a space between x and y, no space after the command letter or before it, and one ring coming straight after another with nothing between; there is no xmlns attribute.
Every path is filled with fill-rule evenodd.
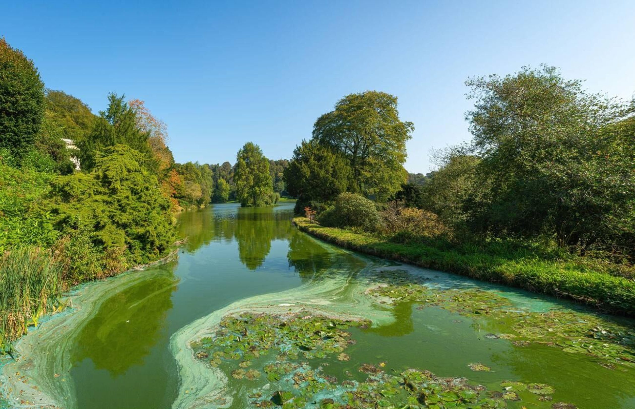
<svg viewBox="0 0 635 409"><path fill-rule="evenodd" d="M487 339L508 339L518 347L544 344L566 353L598 358L606 368L625 365L635 368L635 328L602 316L552 309L544 313L514 309L509 299L477 289L435 289L420 283L382 284L367 291L378 302L417 302L420 308L438 307L478 320L488 317L509 323L502 334ZM472 368L473 369L473 368Z"/></svg>

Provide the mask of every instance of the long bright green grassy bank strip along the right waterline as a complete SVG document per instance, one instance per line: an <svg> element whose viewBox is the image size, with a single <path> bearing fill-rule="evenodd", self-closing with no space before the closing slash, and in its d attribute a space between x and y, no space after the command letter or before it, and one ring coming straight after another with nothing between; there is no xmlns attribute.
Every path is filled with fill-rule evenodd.
<svg viewBox="0 0 635 409"><path fill-rule="evenodd" d="M635 282L575 260L542 259L528 250L497 251L466 245L456 249L429 243L393 243L371 233L328 228L305 217L293 223L327 242L373 256L501 283L583 302L614 314L635 316Z"/></svg>

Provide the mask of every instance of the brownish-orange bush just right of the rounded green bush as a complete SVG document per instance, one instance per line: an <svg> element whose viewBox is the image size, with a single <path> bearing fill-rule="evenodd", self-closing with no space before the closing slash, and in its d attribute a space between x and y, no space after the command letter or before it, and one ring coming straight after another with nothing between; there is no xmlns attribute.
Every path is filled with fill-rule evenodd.
<svg viewBox="0 0 635 409"><path fill-rule="evenodd" d="M382 211L382 218L385 234L406 232L409 240L413 237L438 237L450 233L436 214L413 207L404 207L403 202L390 202Z"/></svg>

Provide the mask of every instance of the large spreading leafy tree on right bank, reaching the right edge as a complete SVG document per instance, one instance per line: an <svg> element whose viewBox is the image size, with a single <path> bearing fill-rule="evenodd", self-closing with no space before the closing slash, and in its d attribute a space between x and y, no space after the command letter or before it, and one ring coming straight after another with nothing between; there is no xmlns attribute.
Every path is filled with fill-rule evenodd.
<svg viewBox="0 0 635 409"><path fill-rule="evenodd" d="M618 245L615 232L635 223L633 105L587 93L547 66L467 85L477 184L488 189L471 200L472 225L551 233L582 252Z"/></svg>

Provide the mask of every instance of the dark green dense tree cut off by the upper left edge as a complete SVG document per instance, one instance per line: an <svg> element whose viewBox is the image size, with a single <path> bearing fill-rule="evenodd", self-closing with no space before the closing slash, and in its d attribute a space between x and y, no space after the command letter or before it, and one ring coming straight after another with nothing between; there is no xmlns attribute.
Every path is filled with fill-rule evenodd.
<svg viewBox="0 0 635 409"><path fill-rule="evenodd" d="M36 140L44 115L44 84L19 49L0 38L0 148L22 157Z"/></svg>

